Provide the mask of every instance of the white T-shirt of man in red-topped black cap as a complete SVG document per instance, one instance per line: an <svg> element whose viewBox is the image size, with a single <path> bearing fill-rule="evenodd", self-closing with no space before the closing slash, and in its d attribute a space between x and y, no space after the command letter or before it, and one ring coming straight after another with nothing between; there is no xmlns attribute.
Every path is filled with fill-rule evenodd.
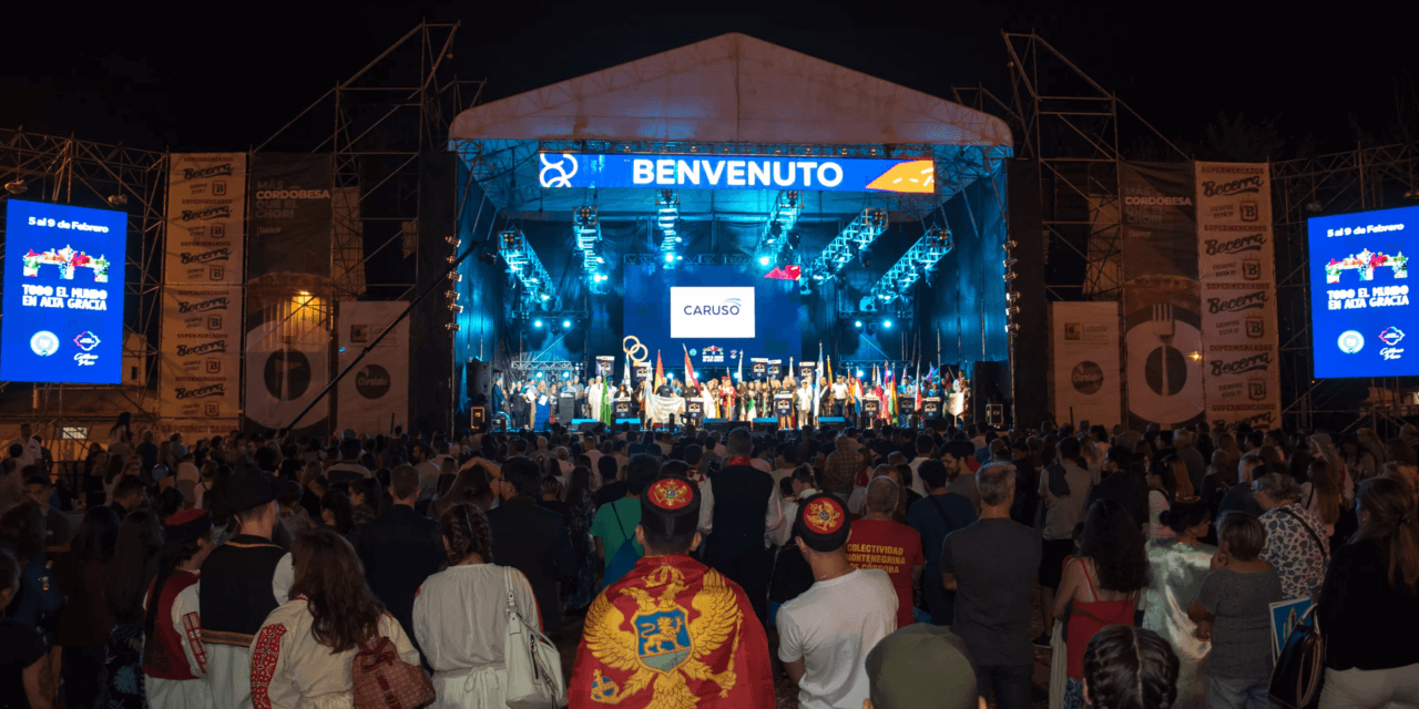
<svg viewBox="0 0 1419 709"><path fill-rule="evenodd" d="M881 569L817 581L779 608L779 659L803 661L799 706L858 708L867 652L897 630L897 591Z"/></svg>

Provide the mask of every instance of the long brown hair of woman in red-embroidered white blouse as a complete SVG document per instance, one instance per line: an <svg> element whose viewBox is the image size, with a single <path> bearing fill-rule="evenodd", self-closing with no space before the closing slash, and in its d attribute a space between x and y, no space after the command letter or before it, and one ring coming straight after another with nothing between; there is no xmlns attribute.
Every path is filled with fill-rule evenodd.
<svg viewBox="0 0 1419 709"><path fill-rule="evenodd" d="M365 583L355 547L333 529L301 532L291 545L297 570L291 597L304 597L314 623L311 634L332 652L345 652L379 634L385 604Z"/></svg>

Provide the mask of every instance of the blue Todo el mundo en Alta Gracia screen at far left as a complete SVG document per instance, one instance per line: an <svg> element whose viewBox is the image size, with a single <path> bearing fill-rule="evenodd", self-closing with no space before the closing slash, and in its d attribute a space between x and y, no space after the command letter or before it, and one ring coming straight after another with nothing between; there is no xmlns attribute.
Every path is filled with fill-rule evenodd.
<svg viewBox="0 0 1419 709"><path fill-rule="evenodd" d="M128 214L6 201L0 380L118 384Z"/></svg>

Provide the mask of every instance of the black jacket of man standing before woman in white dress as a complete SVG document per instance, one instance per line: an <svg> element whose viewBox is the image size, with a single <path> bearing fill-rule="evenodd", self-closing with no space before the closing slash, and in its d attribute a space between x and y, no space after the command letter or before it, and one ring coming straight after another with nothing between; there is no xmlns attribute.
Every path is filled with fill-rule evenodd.
<svg viewBox="0 0 1419 709"><path fill-rule="evenodd" d="M532 584L542 630L555 635L562 628L562 600L558 581L576 577L576 556L562 515L518 496L488 510L492 532L492 563L511 566Z"/></svg>

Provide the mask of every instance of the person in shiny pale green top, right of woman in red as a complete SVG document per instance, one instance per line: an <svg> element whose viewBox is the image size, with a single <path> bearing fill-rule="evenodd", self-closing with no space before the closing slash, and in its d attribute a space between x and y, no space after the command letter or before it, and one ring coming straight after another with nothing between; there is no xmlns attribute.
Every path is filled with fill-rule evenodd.
<svg viewBox="0 0 1419 709"><path fill-rule="evenodd" d="M1218 547L1202 543L1212 527L1208 503L1202 498L1179 498L1164 510L1161 522L1172 530L1171 539L1149 539L1148 587L1144 590L1142 627L1166 638L1178 655L1179 709L1202 708L1206 681L1202 664L1212 644L1198 635L1198 624L1188 617L1188 607L1198 584L1212 567Z"/></svg>

